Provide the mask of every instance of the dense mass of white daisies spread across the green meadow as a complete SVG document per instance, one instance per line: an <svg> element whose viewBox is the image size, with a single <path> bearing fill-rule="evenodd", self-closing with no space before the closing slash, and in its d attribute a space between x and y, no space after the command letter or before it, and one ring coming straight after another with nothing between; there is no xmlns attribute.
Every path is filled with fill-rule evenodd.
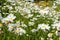
<svg viewBox="0 0 60 40"><path fill-rule="evenodd" d="M53 40L52 37L60 36L59 2L54 1L52 6L43 7L24 0L6 0L4 6L0 6L0 31L5 25L8 31L18 35L29 36L29 32L40 32L42 40L44 33L48 40Z"/></svg>

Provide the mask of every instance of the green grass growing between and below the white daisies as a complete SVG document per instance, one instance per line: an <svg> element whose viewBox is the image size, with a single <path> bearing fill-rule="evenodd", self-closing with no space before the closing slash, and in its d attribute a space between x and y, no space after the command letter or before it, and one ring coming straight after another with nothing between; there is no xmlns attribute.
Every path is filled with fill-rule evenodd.
<svg viewBox="0 0 60 40"><path fill-rule="evenodd" d="M48 7L52 7L53 2L54 1L51 1L49 3ZM6 3L6 4L4 4L4 3ZM55 3L55 4L56 4L57 7L54 10L56 12L60 12L60 9L59 9L60 8L60 4L57 4L57 3ZM25 12L22 12L21 13L21 10L16 11L19 8L15 9L15 7L16 6L19 6L19 4L15 5L15 6L13 5L12 6L12 8L13 8L12 10L8 9L8 7L5 7L4 8L4 6L7 6L7 5L12 6L11 3L10 2L6 2L6 0L1 0L0 1L0 9L1 9L1 15L2 15L2 17L5 18L10 13L12 13L12 14L14 14L14 16L16 16L16 19L14 19L13 22L10 22L9 21L7 24L3 23L1 21L1 19L0 19L0 24L3 25L2 27L0 27L1 28L1 30L0 30L0 40L43 40L43 39L44 40L51 40L51 39L53 39L53 40L59 40L60 36L57 36L55 34L55 32L57 31L57 29L56 28L55 29L52 28L53 27L52 24L55 22L55 20L56 20L55 16L57 16L57 14L56 15L53 15L52 17L51 17L50 14L48 14L48 15L44 14L44 16L42 16L39 12L35 12L34 11L34 12L31 12L31 14L33 14L33 16L28 18L28 15L29 14L27 14ZM45 6L45 7L47 7L47 6ZM6 13L8 13L8 14L6 14ZM25 14L25 15L21 15L21 14ZM37 17L37 15L39 15L40 17ZM58 16L58 19L57 19L58 20L58 23L60 21L60 18L59 17L60 16ZM33 18L37 18L38 20L32 21L31 19L33 19ZM13 29L12 31L9 31L8 30L9 29L8 28L8 24L9 23L15 24L17 21L19 21L20 25L22 25L22 23L23 23L23 24L25 24L27 26L26 28L24 28L22 26L19 26L18 27L18 28L21 27L24 30L26 30L26 34L19 35L18 33L15 33L14 30L17 27L15 29ZM29 22L34 22L34 25L33 26L29 26ZM31 32L32 29L37 29L38 24L43 24L43 23L44 24L49 24L50 29L49 30L46 30L46 31L44 31L42 29L39 29L36 32ZM53 33L52 37L48 37L48 33Z"/></svg>

